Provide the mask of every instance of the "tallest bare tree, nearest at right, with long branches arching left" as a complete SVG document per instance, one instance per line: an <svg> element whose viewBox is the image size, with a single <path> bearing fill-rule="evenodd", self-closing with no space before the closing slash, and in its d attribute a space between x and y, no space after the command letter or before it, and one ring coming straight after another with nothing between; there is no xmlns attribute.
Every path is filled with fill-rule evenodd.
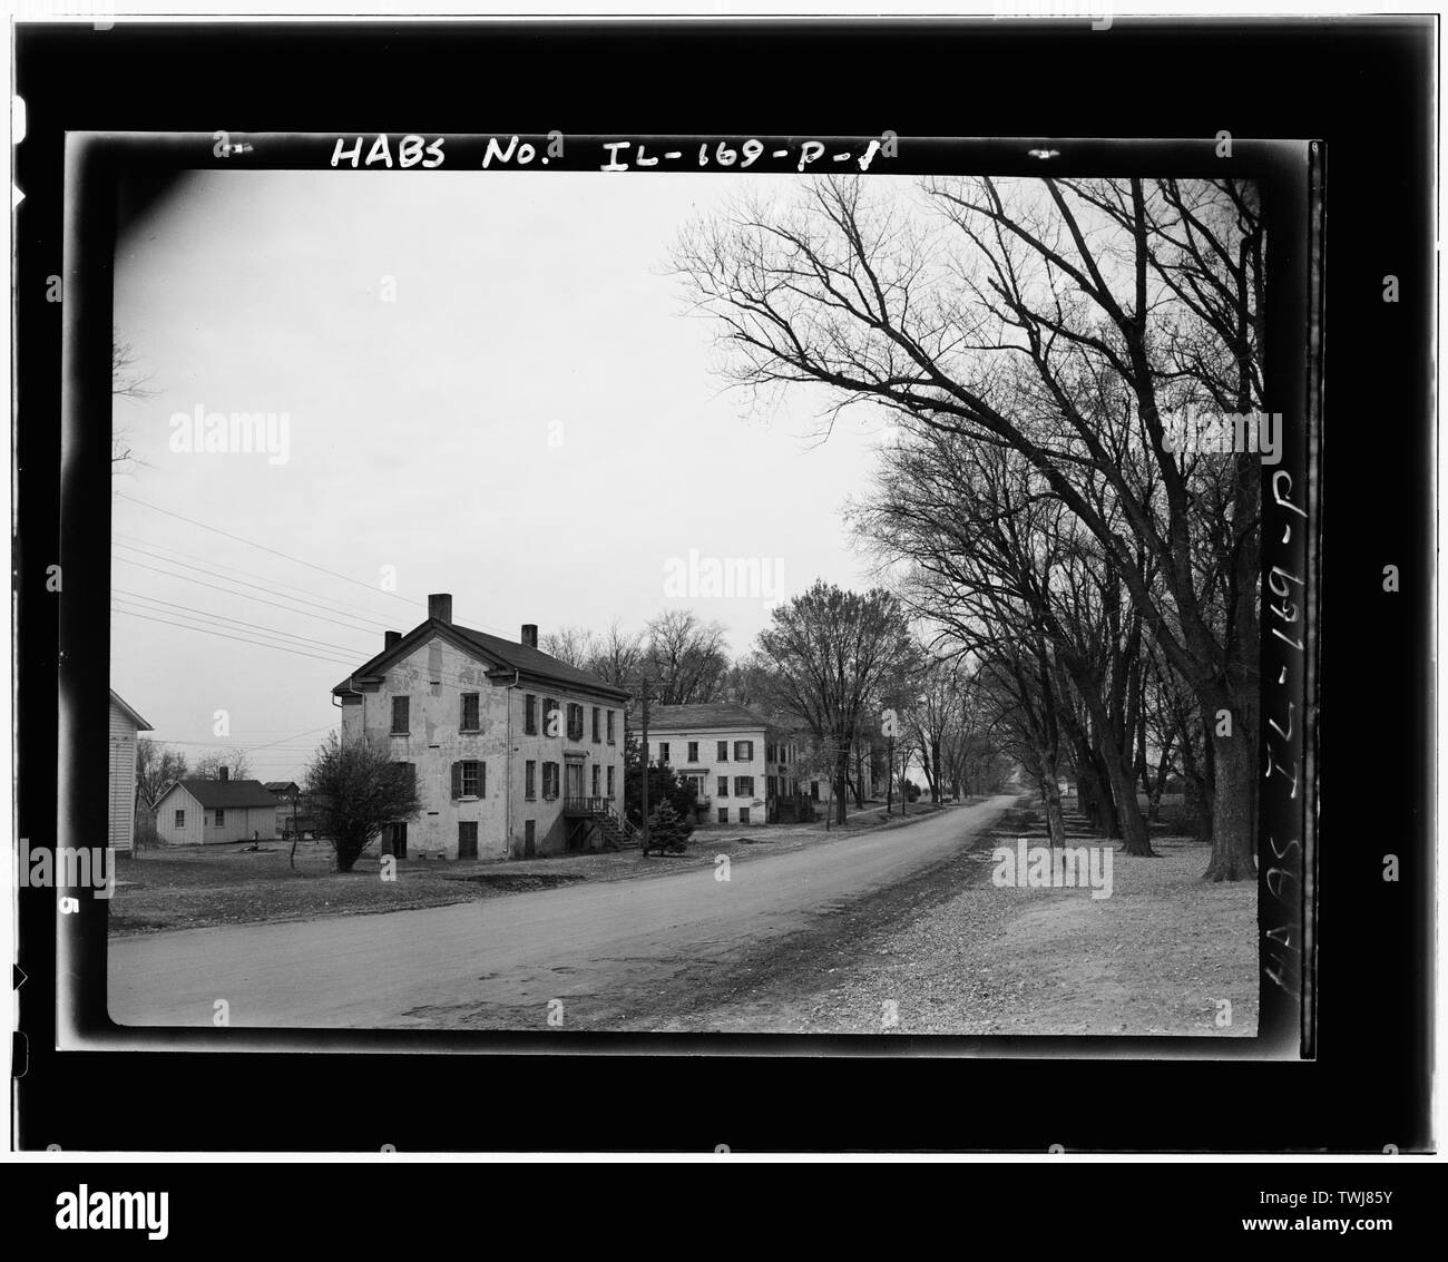
<svg viewBox="0 0 1448 1262"><path fill-rule="evenodd" d="M922 185L919 213L862 179L794 207L743 203L675 263L717 320L728 375L830 388L904 428L1022 456L1119 575L1212 732L1205 876L1255 874L1257 528L1253 453L1173 452L1183 408L1260 411L1263 230L1232 181ZM1208 719L1209 716L1209 719Z"/></svg>

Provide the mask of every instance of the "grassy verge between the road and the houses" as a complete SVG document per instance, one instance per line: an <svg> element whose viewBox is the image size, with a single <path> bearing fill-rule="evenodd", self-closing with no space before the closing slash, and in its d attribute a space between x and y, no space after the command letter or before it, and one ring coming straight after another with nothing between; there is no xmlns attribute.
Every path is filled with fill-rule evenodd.
<svg viewBox="0 0 1448 1262"><path fill-rule="evenodd" d="M862 832L899 828L934 810L951 809L917 803L905 819L899 815L886 819L882 809L867 809L851 816L843 829L825 829L822 822L754 829L699 828L682 855L644 858L634 850L478 863L404 860L397 864L397 878L391 881L382 880L376 855L363 855L350 873L333 871L332 848L324 842L298 845L295 867L290 863L291 845L279 841L262 842L256 850L224 845L146 851L139 858L120 855L116 861L109 932L129 936L410 912L578 881L646 880L714 867L718 855L728 855L730 863L747 863Z"/></svg>

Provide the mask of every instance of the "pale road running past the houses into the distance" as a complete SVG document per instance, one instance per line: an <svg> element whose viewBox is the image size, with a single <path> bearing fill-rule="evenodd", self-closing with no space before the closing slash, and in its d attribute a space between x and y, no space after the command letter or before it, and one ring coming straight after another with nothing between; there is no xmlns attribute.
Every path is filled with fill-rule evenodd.
<svg viewBox="0 0 1448 1262"><path fill-rule="evenodd" d="M279 925L184 929L110 942L119 1025L620 1028L701 970L730 968L841 902L969 845L1011 803L647 880L601 881L449 907ZM582 1020L581 1020L582 1017Z"/></svg>

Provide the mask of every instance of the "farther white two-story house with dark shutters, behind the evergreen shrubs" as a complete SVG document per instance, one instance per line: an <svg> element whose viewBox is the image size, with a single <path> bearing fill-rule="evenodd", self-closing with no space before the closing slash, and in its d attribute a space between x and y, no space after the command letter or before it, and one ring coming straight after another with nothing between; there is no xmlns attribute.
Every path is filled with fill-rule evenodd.
<svg viewBox="0 0 1448 1262"><path fill-rule="evenodd" d="M733 702L650 708L649 758L692 780L714 823L773 823L799 792L795 734Z"/></svg>

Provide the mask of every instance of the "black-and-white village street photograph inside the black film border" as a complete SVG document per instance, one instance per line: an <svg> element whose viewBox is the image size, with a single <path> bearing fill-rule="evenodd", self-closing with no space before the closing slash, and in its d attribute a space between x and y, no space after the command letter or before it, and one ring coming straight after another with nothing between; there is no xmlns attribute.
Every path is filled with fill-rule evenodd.
<svg viewBox="0 0 1448 1262"><path fill-rule="evenodd" d="M1255 179L214 143L117 188L113 1022L1257 1033Z"/></svg>

